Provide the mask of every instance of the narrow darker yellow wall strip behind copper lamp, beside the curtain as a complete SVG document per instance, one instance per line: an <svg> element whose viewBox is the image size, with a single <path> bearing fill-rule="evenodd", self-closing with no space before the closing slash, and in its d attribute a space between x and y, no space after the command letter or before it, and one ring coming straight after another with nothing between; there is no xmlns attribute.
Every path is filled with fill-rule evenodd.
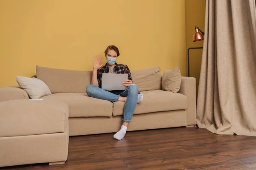
<svg viewBox="0 0 256 170"><path fill-rule="evenodd" d="M186 54L190 47L203 47L204 41L193 42L195 26L204 31L205 23L205 0L185 0L186 15ZM189 76L196 78L196 91L198 91L198 83L201 69L203 49L189 50ZM196 93L198 94L198 93Z"/></svg>

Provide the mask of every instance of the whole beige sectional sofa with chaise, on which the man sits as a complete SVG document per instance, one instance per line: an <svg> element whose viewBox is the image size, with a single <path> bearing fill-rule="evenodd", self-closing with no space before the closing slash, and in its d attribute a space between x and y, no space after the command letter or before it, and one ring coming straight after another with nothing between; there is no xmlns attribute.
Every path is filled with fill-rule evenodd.
<svg viewBox="0 0 256 170"><path fill-rule="evenodd" d="M0 167L67 160L68 136L119 130L124 102L85 93L91 71L36 67L50 89L41 101L28 101L18 86L0 88ZM195 78L181 77L177 93L162 90L159 67L132 71L143 94L128 131L195 125Z"/></svg>

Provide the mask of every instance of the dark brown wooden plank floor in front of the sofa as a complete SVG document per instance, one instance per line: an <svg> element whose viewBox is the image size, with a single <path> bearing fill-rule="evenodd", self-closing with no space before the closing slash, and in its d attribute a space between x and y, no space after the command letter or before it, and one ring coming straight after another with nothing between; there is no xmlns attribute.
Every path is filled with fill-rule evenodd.
<svg viewBox="0 0 256 170"><path fill-rule="evenodd" d="M65 164L0 170L256 170L256 137L216 135L197 127L70 137Z"/></svg>

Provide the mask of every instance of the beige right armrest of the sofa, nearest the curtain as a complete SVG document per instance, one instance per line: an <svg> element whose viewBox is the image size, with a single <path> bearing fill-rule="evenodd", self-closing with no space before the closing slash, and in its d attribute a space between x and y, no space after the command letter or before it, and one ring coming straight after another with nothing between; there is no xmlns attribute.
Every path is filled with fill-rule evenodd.
<svg viewBox="0 0 256 170"><path fill-rule="evenodd" d="M178 93L188 97L189 104L187 112L187 126L196 124L196 92L195 78L181 77L180 91Z"/></svg>

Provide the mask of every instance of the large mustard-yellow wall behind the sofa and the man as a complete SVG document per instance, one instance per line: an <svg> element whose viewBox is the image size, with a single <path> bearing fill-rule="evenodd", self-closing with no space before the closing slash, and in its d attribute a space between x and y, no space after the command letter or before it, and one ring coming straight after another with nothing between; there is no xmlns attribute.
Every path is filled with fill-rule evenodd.
<svg viewBox="0 0 256 170"><path fill-rule="evenodd" d="M1 0L0 23L0 87L36 65L91 70L112 44L131 71L186 76L185 0Z"/></svg>

